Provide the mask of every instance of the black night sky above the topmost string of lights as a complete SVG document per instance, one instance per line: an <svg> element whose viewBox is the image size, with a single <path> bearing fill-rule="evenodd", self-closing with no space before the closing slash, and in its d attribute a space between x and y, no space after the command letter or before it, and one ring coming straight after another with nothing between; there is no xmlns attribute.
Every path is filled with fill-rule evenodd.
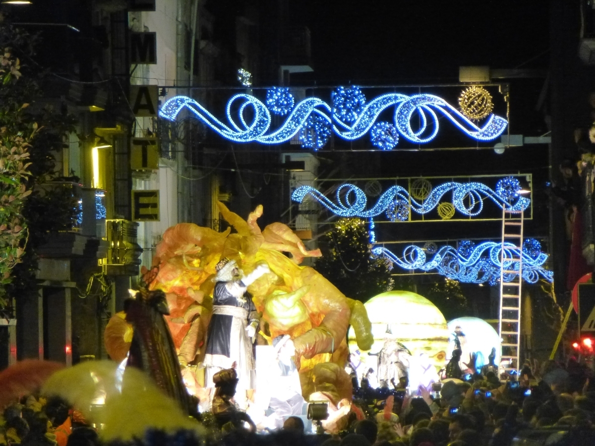
<svg viewBox="0 0 595 446"><path fill-rule="evenodd" d="M459 65L513 68L549 48L547 2L292 1L318 82L458 81ZM547 53L526 68L547 66Z"/></svg>

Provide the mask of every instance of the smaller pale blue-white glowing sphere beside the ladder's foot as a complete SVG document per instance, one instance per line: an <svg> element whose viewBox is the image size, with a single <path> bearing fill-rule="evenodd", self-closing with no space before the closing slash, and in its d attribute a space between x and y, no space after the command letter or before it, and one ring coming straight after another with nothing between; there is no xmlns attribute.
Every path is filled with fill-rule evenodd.
<svg viewBox="0 0 595 446"><path fill-rule="evenodd" d="M454 347L454 333L458 326L461 327L461 332L465 335L465 343L461 343L464 351L461 357L462 362L469 361L469 353L477 353L475 365L480 369L481 366L488 363L488 355L491 349L496 348L495 363L496 365L500 364L500 337L489 323L480 318L453 319L448 323L451 347ZM452 348L449 350L452 350ZM447 356L450 357L450 351L448 351Z"/></svg>

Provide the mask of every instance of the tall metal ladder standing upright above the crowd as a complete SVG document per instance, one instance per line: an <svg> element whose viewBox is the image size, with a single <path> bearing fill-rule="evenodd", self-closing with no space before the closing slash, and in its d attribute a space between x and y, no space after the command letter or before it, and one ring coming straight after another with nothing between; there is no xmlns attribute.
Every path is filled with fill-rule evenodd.
<svg viewBox="0 0 595 446"><path fill-rule="evenodd" d="M500 372L507 378L518 377L521 357L521 284L524 212L502 210L502 246L500 249L500 319L502 338ZM510 249L505 244L518 247ZM502 376L500 376L502 378Z"/></svg>

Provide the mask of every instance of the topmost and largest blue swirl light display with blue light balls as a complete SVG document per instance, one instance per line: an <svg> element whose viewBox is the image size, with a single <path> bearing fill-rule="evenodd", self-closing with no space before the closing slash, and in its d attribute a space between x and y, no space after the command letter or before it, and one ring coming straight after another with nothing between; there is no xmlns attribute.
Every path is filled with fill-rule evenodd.
<svg viewBox="0 0 595 446"><path fill-rule="evenodd" d="M331 132L348 141L368 134L372 145L382 150L396 147L399 136L415 144L425 144L438 134L439 115L478 141L496 139L508 125L505 118L490 114L479 127L439 96L388 93L367 100L358 87L337 87L331 95L331 103L319 98L295 102L289 90L277 87L268 90L265 102L240 93L227 102L228 123L219 120L195 99L174 96L164 103L159 116L175 121L184 108L221 137L233 142L275 145L291 140L301 131L302 146L314 150L328 142ZM389 109L392 109L394 122L378 121ZM278 128L271 128L271 113L284 117ZM246 115L250 116L248 120ZM308 137L303 137L304 129ZM322 134L316 136L313 132Z"/></svg>

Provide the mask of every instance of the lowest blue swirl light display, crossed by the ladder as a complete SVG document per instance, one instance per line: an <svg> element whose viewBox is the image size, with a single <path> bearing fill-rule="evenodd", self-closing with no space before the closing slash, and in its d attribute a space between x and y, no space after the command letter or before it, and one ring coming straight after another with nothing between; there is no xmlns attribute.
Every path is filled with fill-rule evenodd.
<svg viewBox="0 0 595 446"><path fill-rule="evenodd" d="M518 271L518 259L521 255L518 246L513 243L504 244L504 269ZM537 248L536 248L537 247ZM502 244L495 241L484 241L475 244L465 240L459 244L459 249L453 246L442 246L428 259L422 247L409 245L403 249L401 257L390 250L375 246L372 255L383 256L392 265L413 271L418 269L425 272L436 271L449 279L459 282L482 284L489 282L495 285L500 280L500 257ZM508 259L508 260L507 260ZM553 281L553 272L543 267L547 254L541 252L539 242L533 238L525 240L522 249L522 278L530 283L536 283L540 278L548 282ZM504 281L511 282L518 277L518 272L504 274Z"/></svg>

